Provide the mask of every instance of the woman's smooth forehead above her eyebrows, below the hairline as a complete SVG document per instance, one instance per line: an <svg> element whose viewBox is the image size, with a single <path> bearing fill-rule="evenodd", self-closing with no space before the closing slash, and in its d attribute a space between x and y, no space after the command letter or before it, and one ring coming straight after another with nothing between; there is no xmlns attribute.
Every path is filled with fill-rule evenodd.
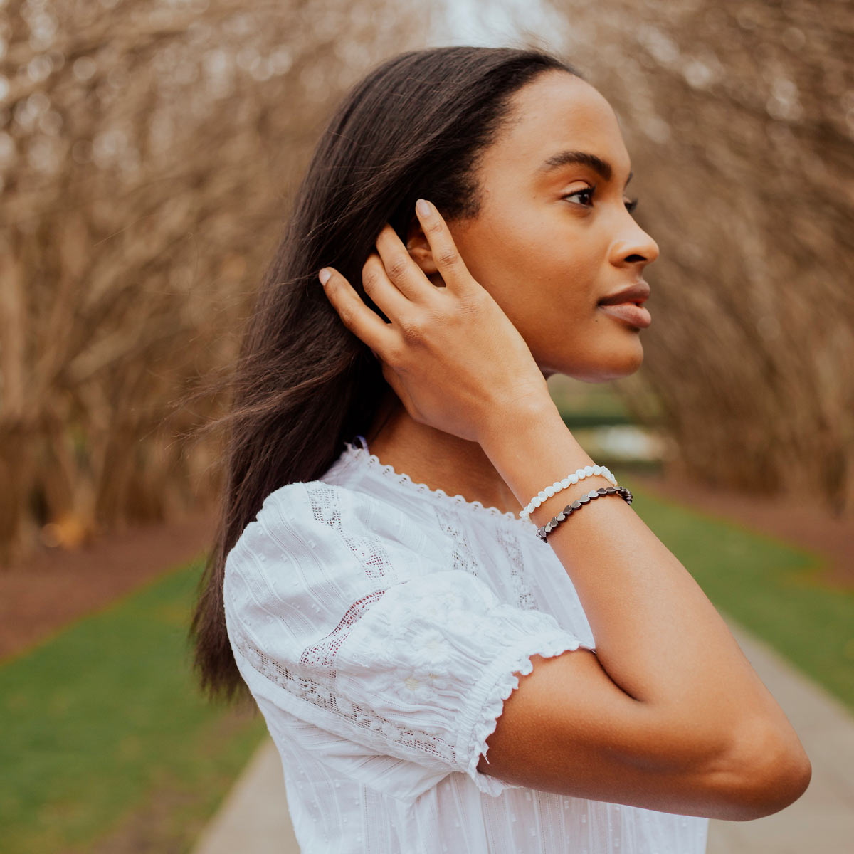
<svg viewBox="0 0 854 854"><path fill-rule="evenodd" d="M629 174L629 152L611 104L570 73L537 75L513 95L507 119L483 153L484 173L512 167L520 178L535 178L537 168L549 157L575 149L610 161L618 180Z"/></svg>

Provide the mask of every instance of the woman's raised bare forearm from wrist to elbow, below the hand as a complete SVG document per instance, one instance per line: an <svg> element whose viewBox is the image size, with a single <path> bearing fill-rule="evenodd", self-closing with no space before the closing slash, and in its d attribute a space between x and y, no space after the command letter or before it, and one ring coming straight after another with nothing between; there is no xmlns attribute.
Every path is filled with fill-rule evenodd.
<svg viewBox="0 0 854 854"><path fill-rule="evenodd" d="M481 445L523 505L547 484L595 465L553 406L494 419ZM587 477L547 498L530 518L544 525L590 489L610 485ZM742 732L746 722L790 730L697 582L624 500L590 502L541 547L552 548L569 574L603 669L625 693L660 711L660 720L710 740Z"/></svg>

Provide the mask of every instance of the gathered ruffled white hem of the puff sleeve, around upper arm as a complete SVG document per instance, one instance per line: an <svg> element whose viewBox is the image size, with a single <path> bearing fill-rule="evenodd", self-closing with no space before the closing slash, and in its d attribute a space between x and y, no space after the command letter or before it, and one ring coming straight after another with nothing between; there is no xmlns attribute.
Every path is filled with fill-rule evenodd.
<svg viewBox="0 0 854 854"><path fill-rule="evenodd" d="M495 660L489 674L484 676L477 685L474 702L467 710L467 714L473 717L471 728L466 726L462 731L471 733L468 745L463 746L465 755L469 757L465 771L480 792L497 797L507 788L522 788L515 783L501 781L497 777L482 774L477 770L477 763L480 762L482 754L487 763L489 761L487 739L498 726L498 718L504 711L504 701L519 687L517 673L527 676L531 670L534 670L532 656L553 658L562 652L575 651L579 647L595 651L594 646L588 645L564 630L553 635L530 638L521 649L519 646L506 649L505 654ZM470 722L466 721L466 723Z"/></svg>

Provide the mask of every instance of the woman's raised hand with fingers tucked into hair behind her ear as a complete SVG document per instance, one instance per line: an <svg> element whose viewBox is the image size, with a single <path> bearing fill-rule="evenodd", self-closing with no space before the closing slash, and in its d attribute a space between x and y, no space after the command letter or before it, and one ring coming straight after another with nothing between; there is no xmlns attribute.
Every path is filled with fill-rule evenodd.
<svg viewBox="0 0 854 854"><path fill-rule="evenodd" d="M324 267L319 278L412 418L480 442L494 418L550 403L546 379L524 338L465 267L442 214L424 200L416 214L444 288L430 282L390 225L362 267L366 294L389 323L341 273Z"/></svg>

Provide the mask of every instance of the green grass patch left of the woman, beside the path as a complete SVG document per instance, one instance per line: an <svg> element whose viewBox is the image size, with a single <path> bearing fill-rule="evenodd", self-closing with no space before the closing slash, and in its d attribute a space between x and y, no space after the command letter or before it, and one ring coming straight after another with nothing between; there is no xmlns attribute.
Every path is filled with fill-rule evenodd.
<svg viewBox="0 0 854 854"><path fill-rule="evenodd" d="M6 854L186 851L266 728L208 705L185 642L190 564L0 666ZM138 816L150 821L139 822ZM124 850L124 849L122 849Z"/></svg>

